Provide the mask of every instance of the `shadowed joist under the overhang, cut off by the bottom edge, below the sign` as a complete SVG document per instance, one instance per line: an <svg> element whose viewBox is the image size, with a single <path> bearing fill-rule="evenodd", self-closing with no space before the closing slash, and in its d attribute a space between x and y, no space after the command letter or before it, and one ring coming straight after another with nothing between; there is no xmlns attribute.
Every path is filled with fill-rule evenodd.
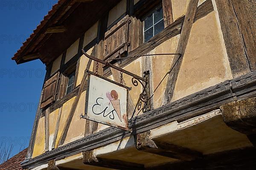
<svg viewBox="0 0 256 170"><path fill-rule="evenodd" d="M87 165L92 165L96 167L106 167L117 170L144 170L143 164L98 158L93 154L93 150L86 151L83 153L83 162L84 164Z"/></svg>

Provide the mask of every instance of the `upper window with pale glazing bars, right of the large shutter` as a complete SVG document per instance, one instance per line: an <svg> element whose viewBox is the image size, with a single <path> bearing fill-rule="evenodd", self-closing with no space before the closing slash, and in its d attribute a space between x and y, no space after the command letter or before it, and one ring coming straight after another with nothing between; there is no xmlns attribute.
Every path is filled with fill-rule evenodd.
<svg viewBox="0 0 256 170"><path fill-rule="evenodd" d="M144 42L147 42L163 29L163 8L159 7L144 20Z"/></svg>

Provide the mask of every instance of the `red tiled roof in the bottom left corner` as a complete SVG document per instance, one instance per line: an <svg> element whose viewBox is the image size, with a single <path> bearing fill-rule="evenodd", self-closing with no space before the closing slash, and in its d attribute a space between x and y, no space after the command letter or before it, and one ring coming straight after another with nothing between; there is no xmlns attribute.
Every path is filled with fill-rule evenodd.
<svg viewBox="0 0 256 170"><path fill-rule="evenodd" d="M0 164L0 170L23 170L20 163L25 160L28 148Z"/></svg>

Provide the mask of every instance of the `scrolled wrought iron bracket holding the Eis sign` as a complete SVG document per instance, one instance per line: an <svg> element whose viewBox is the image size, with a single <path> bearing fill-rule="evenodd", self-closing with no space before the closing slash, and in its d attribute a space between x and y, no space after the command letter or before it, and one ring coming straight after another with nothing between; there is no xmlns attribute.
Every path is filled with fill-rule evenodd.
<svg viewBox="0 0 256 170"><path fill-rule="evenodd" d="M107 66L109 66L109 67L111 67L111 68L113 68L113 69L116 69L116 70L120 71L121 73L125 73L125 74L131 76L131 77L132 77L131 81L132 81L132 84L133 84L134 86L138 86L139 83L142 85L143 91L142 91L142 93L140 94L140 97L139 97L139 99L138 99L138 101L137 101L137 104L136 104L135 110L134 110L134 112L133 112L133 115L134 115L134 113L136 112L136 109L138 109L138 111L142 110L143 113L151 110L150 105L148 105L149 96L150 96L150 93L149 93L149 72L148 72L148 71L145 71L145 72L143 73L143 77L140 77L140 76L138 76L138 75L136 75L136 74L133 74L133 73L131 73L131 72L129 72L129 71L126 71L126 70L124 70L124 69L122 69L122 68L119 68L119 67L117 67L116 65L113 65L113 64L111 64L111 63L109 63L109 62L106 62L106 61L104 61L104 60L102 60L102 59L98 59L98 58L96 58L96 57L90 56L89 54L87 54L87 53L84 51L84 49L82 49L82 51L83 51L83 54L84 54L87 58L92 59L93 61L102 63L103 65L107 65ZM144 105L143 105L142 103L144 103ZM142 106L143 106L143 107L142 107Z"/></svg>

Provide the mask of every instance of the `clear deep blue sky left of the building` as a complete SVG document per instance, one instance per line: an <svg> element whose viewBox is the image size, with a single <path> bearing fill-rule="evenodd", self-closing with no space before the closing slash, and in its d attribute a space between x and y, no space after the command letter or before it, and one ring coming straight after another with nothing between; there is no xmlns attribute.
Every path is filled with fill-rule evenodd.
<svg viewBox="0 0 256 170"><path fill-rule="evenodd" d="M56 2L0 0L0 143L14 145L12 156L29 144L45 65L16 65L11 57Z"/></svg>

